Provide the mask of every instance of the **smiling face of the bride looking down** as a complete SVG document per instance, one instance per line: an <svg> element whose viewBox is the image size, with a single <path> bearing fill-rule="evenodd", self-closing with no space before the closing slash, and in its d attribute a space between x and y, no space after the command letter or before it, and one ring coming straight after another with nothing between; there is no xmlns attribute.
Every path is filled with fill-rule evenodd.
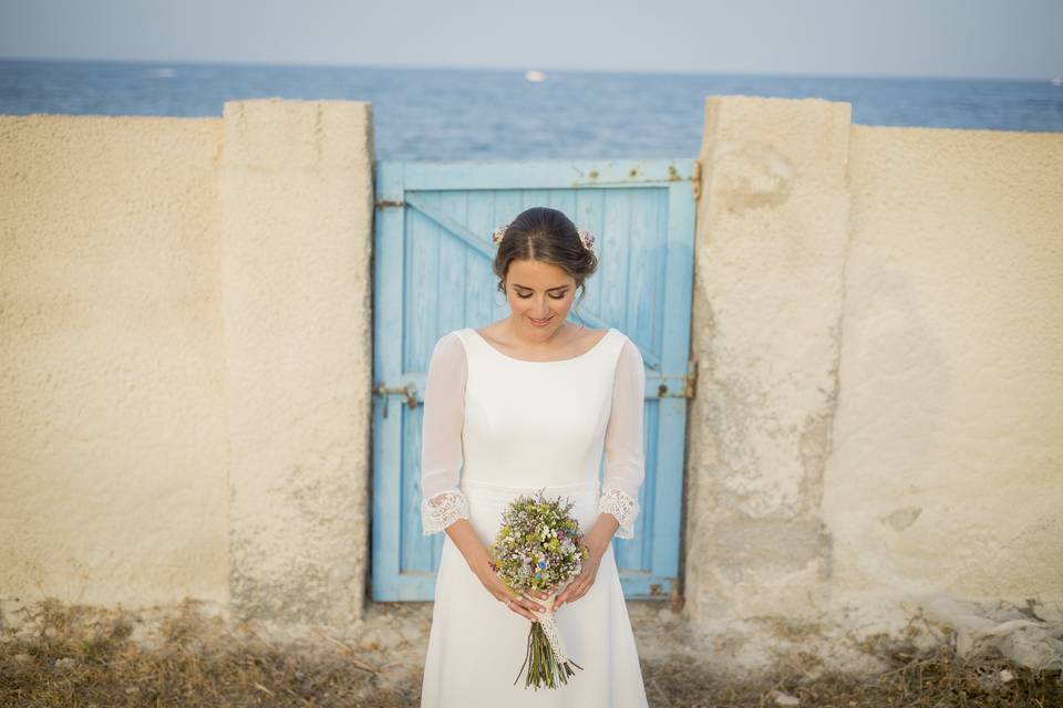
<svg viewBox="0 0 1063 708"><path fill-rule="evenodd" d="M565 323L576 296L576 279L543 261L510 261L506 298L514 326L529 339L547 339Z"/></svg>

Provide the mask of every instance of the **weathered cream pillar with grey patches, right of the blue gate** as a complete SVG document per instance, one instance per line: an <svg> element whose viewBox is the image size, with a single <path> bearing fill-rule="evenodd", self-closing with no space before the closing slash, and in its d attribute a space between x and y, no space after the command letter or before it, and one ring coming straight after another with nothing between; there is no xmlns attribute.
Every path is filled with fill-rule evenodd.
<svg viewBox="0 0 1063 708"><path fill-rule="evenodd" d="M700 162L684 612L826 610L850 106L710 97Z"/></svg>

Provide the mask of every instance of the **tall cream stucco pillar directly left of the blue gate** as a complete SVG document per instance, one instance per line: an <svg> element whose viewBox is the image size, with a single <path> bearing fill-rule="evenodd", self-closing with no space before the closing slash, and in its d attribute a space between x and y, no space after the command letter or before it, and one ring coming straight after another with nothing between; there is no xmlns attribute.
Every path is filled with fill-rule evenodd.
<svg viewBox="0 0 1063 708"><path fill-rule="evenodd" d="M231 608L349 623L369 548L371 105L230 102L224 124Z"/></svg>

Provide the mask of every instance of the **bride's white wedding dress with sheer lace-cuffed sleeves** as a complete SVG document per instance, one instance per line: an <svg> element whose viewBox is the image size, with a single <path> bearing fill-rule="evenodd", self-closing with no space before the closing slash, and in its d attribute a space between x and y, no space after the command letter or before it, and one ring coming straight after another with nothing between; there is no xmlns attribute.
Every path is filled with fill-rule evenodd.
<svg viewBox="0 0 1063 708"><path fill-rule="evenodd" d="M576 357L512 357L471 327L436 342L424 389L421 513L425 534L468 519L485 546L507 503L540 490L575 502L581 533L599 513L633 537L644 477L642 356L607 330ZM605 451L602 479L598 468ZM612 544L591 589L565 603L557 626L575 669L556 689L514 685L532 624L479 582L443 540L424 663L424 708L647 706L642 671ZM525 667L527 671L527 667Z"/></svg>

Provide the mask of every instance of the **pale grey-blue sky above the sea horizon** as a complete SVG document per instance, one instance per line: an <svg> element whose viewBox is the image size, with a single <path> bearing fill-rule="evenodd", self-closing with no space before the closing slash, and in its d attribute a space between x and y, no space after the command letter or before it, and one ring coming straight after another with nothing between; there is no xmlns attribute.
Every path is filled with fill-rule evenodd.
<svg viewBox="0 0 1063 708"><path fill-rule="evenodd" d="M1063 0L0 0L0 58L1063 76Z"/></svg>

